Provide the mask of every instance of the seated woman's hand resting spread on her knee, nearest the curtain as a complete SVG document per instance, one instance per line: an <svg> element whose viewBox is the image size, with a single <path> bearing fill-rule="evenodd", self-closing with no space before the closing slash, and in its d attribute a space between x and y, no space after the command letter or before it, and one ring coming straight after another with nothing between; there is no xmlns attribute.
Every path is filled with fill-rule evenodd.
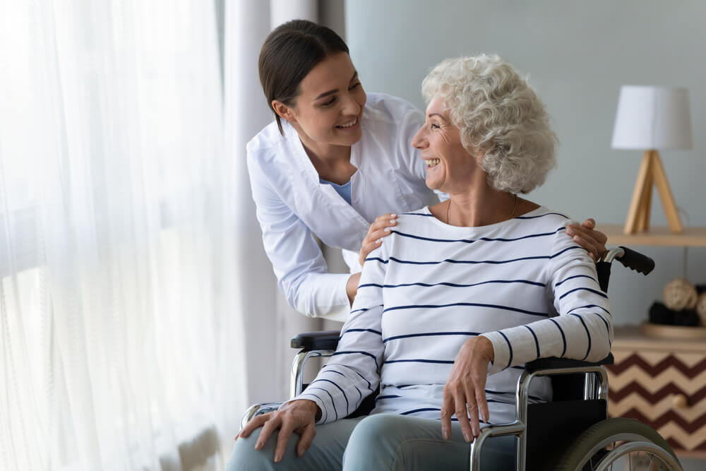
<svg viewBox="0 0 706 471"><path fill-rule="evenodd" d="M262 427L258 441L255 443L256 450L262 450L270 439L270 435L277 429L277 446L275 447L275 463L280 463L287 449L287 442L292 432L301 436L297 443L297 455L302 456L311 446L311 441L316 435L316 419L321 415L318 405L312 400L300 399L282 405L280 410L257 415L248 422L240 433L235 437L246 438L253 430Z"/></svg>

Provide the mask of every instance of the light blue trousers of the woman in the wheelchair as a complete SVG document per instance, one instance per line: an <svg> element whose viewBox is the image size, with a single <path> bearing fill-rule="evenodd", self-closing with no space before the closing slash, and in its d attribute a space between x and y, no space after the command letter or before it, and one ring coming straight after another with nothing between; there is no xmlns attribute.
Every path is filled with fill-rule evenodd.
<svg viewBox="0 0 706 471"><path fill-rule="evenodd" d="M255 449L260 431L235 442L227 471L250 470L467 470L470 445L452 423L451 439L441 436L441 422L404 415L376 414L317 425L311 447L299 458L299 435L292 434L287 452L275 463L277 434L262 450ZM487 440L483 470L515 467L515 437Z"/></svg>

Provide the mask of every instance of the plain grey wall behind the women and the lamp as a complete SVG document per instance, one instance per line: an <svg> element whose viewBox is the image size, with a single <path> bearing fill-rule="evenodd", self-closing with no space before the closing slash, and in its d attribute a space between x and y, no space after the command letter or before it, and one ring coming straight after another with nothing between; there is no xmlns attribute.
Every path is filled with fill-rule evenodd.
<svg viewBox="0 0 706 471"><path fill-rule="evenodd" d="M662 152L684 225L706 226L706 2L419 1L346 2L346 32L364 87L423 108L419 84L448 56L497 53L530 75L561 145L558 169L529 198L599 224L626 220L642 153L610 147L620 85L690 89L693 150ZM652 225L666 225L653 196ZM614 268L617 325L636 324L662 287L688 268L706 283L706 248L637 247L655 258L649 277Z"/></svg>

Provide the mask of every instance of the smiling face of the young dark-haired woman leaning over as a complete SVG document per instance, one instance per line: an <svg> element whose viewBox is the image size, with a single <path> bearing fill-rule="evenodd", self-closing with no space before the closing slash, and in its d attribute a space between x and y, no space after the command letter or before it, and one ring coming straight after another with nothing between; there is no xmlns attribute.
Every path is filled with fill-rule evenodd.
<svg viewBox="0 0 706 471"><path fill-rule="evenodd" d="M274 100L273 108L297 129L306 148L324 157L331 145L349 147L360 140L366 95L348 54L317 64L299 91L293 106Z"/></svg>

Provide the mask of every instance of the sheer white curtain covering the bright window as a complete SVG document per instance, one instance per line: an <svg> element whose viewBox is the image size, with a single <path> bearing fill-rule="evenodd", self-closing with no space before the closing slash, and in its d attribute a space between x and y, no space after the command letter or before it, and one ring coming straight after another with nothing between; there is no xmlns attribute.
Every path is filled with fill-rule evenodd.
<svg viewBox="0 0 706 471"><path fill-rule="evenodd" d="M252 202L215 20L203 0L0 1L2 470L222 467Z"/></svg>

